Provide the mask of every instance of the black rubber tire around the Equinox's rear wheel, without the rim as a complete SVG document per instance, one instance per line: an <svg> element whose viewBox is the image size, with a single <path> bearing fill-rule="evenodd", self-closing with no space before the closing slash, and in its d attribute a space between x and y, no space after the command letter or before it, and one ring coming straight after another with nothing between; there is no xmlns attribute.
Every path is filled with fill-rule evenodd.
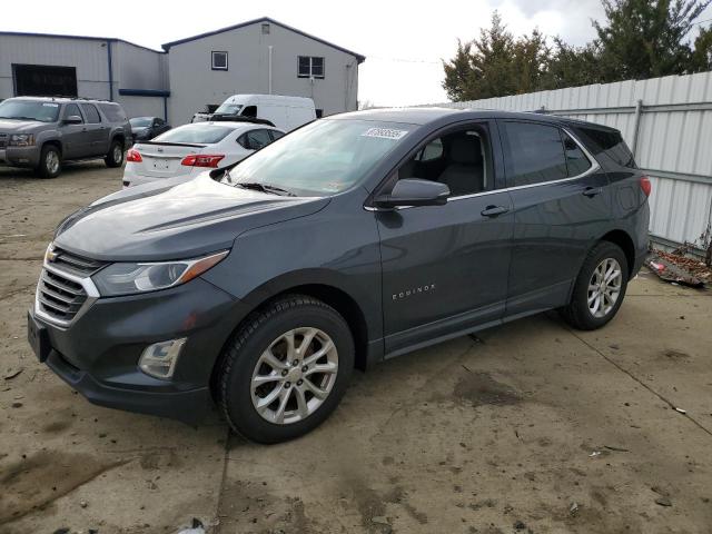
<svg viewBox="0 0 712 534"><path fill-rule="evenodd" d="M617 298L611 309L602 317L596 317L589 307L589 297L593 296L590 291L590 283L593 279L594 270L609 259L617 261L621 267L621 281ZM609 323L615 314L617 314L625 290L627 288L627 259L625 254L617 245L610 241L600 241L586 255L581 271L576 277L574 289L568 306L561 308L560 314L566 323L580 330L595 330Z"/></svg>

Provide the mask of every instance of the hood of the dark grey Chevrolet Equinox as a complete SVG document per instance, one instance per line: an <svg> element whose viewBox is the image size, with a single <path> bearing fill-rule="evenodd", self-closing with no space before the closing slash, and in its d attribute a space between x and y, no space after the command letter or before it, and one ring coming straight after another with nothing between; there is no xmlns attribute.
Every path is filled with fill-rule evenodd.
<svg viewBox="0 0 712 534"><path fill-rule="evenodd" d="M315 214L329 202L226 186L209 172L179 180L128 188L97 200L59 225L56 245L107 261L191 258L228 249L247 230Z"/></svg>

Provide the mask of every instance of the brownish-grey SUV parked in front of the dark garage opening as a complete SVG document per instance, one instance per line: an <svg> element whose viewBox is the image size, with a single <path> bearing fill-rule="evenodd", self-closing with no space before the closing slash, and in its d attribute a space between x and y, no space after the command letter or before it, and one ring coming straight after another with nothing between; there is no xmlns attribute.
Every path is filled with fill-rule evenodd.
<svg viewBox="0 0 712 534"><path fill-rule="evenodd" d="M103 158L120 167L131 126L120 105L103 100L18 97L0 102L0 164L56 178L62 162Z"/></svg>

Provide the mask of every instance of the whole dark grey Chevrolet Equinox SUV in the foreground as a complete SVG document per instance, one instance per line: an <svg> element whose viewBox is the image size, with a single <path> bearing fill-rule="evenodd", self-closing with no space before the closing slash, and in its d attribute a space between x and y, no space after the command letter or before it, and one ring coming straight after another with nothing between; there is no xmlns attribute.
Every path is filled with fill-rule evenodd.
<svg viewBox="0 0 712 534"><path fill-rule="evenodd" d="M335 116L68 217L29 339L93 403L195 423L215 399L280 442L326 419L354 367L546 309L604 326L645 256L650 190L604 126Z"/></svg>

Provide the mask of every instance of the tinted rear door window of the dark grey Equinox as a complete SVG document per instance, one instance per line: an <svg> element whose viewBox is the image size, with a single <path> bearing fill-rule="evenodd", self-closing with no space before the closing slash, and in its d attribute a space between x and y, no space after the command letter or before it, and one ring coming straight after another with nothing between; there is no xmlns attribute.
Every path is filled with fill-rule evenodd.
<svg viewBox="0 0 712 534"><path fill-rule="evenodd" d="M531 186L568 176L558 128L532 122L504 122L511 185Z"/></svg>

